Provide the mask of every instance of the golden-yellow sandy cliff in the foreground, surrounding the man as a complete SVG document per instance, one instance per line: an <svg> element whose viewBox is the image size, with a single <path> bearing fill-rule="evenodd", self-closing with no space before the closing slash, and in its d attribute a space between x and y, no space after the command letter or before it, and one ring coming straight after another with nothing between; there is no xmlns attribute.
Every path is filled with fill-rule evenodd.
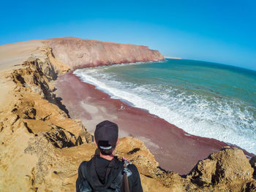
<svg viewBox="0 0 256 192"><path fill-rule="evenodd" d="M0 56L0 191L75 191L78 166L97 153L96 147L53 91L58 75L76 66L57 59L45 43L36 41L28 49L29 43L7 45L15 47L10 57L19 55L18 61L3 52ZM183 177L159 169L138 139L121 139L117 155L138 166L144 191L256 190L255 158L249 162L237 148L212 153Z"/></svg>

